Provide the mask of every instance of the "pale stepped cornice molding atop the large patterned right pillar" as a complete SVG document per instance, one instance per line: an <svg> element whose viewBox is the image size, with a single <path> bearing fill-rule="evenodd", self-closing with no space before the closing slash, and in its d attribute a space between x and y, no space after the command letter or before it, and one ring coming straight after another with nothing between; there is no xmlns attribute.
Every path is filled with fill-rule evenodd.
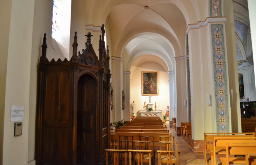
<svg viewBox="0 0 256 165"><path fill-rule="evenodd" d="M199 21L197 24L188 24L186 33L189 33L190 29L199 29L201 26L207 26L208 23L214 22L226 22L226 17L207 17L205 21Z"/></svg>

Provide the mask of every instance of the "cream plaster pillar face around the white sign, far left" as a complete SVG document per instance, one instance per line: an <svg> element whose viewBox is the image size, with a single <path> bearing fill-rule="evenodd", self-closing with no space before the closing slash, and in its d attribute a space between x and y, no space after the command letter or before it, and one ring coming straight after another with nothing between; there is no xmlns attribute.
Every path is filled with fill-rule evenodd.
<svg viewBox="0 0 256 165"><path fill-rule="evenodd" d="M27 164L33 17L34 0L12 1L6 70L4 145L1 149L3 160L0 163L3 165ZM14 137L14 122L10 122L11 105L25 106L21 136Z"/></svg>

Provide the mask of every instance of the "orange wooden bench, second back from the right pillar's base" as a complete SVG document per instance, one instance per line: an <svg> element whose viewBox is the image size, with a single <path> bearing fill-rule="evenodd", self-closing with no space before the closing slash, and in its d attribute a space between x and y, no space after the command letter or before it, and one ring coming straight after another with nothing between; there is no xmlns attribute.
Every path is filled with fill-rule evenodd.
<svg viewBox="0 0 256 165"><path fill-rule="evenodd" d="M210 150L211 164L215 165L216 154L225 154L227 143L255 143L255 137L214 137L213 149Z"/></svg>

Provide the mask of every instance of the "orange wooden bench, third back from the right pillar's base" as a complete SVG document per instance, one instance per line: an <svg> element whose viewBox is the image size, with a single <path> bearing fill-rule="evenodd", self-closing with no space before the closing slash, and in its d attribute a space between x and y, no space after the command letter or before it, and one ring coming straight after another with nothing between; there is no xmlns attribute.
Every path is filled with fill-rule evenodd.
<svg viewBox="0 0 256 165"><path fill-rule="evenodd" d="M246 155L247 152L255 152L255 143L239 143L232 144L227 143L226 145L226 157L221 157L222 165L232 164L245 164L245 157L230 158L229 155Z"/></svg>

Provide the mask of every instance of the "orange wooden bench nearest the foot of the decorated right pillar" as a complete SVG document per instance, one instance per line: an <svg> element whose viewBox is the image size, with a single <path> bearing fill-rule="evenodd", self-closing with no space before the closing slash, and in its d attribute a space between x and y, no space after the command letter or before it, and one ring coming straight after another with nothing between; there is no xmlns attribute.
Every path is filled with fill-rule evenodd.
<svg viewBox="0 0 256 165"><path fill-rule="evenodd" d="M208 164L206 151L213 150L214 137L254 137L255 133L204 133L204 162Z"/></svg>

